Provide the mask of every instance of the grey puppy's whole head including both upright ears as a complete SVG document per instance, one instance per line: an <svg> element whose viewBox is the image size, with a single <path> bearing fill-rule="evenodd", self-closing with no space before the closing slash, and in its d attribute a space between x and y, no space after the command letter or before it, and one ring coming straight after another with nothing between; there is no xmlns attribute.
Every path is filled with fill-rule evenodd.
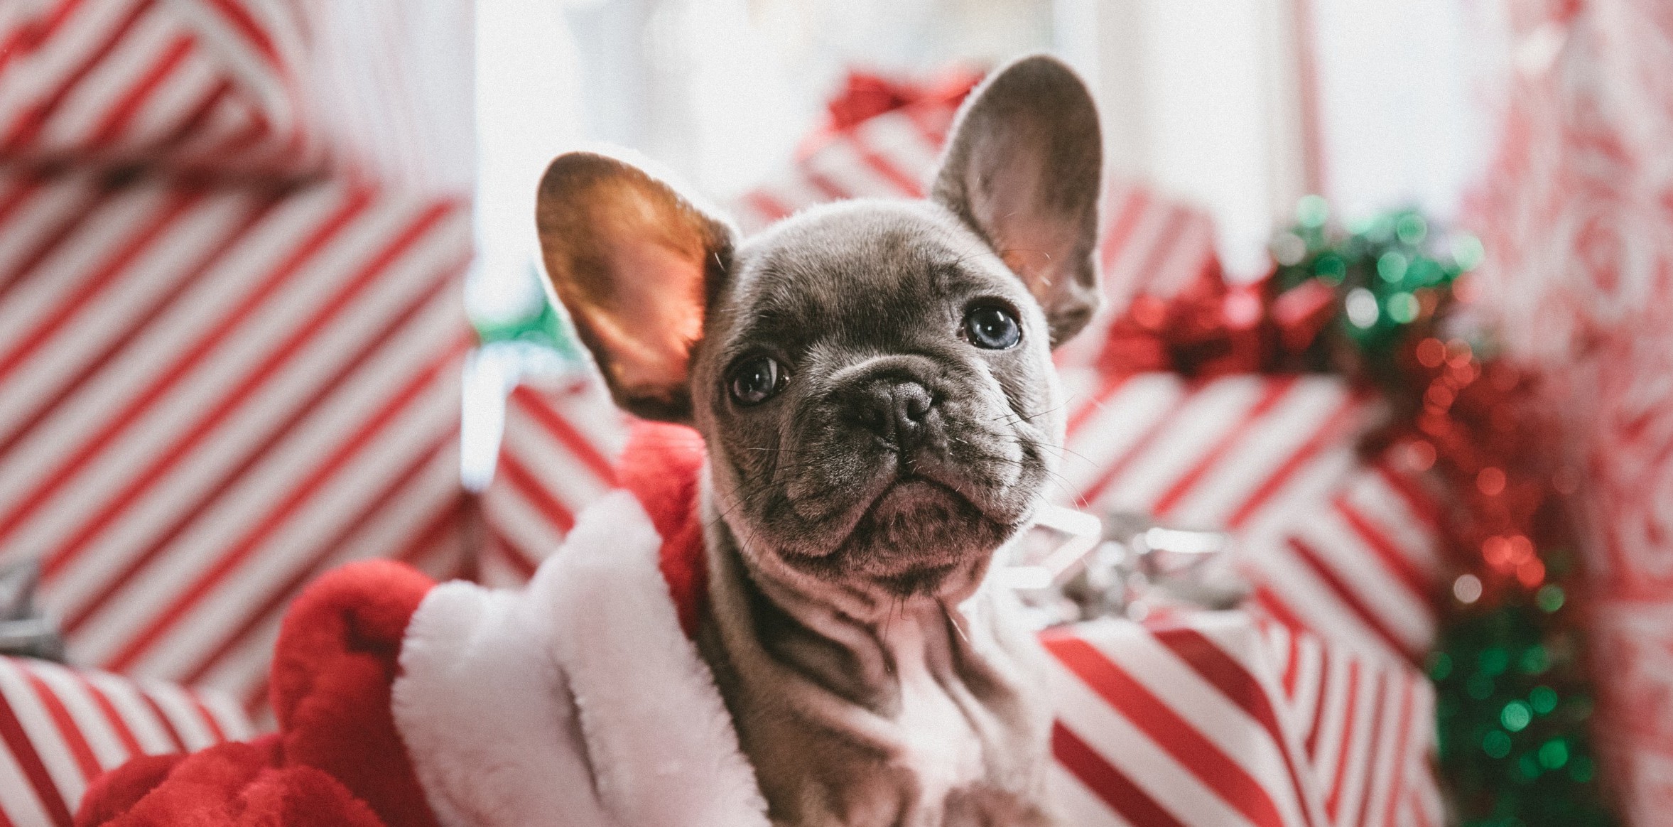
<svg viewBox="0 0 1673 827"><path fill-rule="evenodd" d="M955 122L929 201L853 201L736 244L641 167L569 154L537 219L617 402L689 422L758 571L957 596L1029 519L1062 439L1051 347L1096 308L1099 136L1031 57Z"/></svg>

